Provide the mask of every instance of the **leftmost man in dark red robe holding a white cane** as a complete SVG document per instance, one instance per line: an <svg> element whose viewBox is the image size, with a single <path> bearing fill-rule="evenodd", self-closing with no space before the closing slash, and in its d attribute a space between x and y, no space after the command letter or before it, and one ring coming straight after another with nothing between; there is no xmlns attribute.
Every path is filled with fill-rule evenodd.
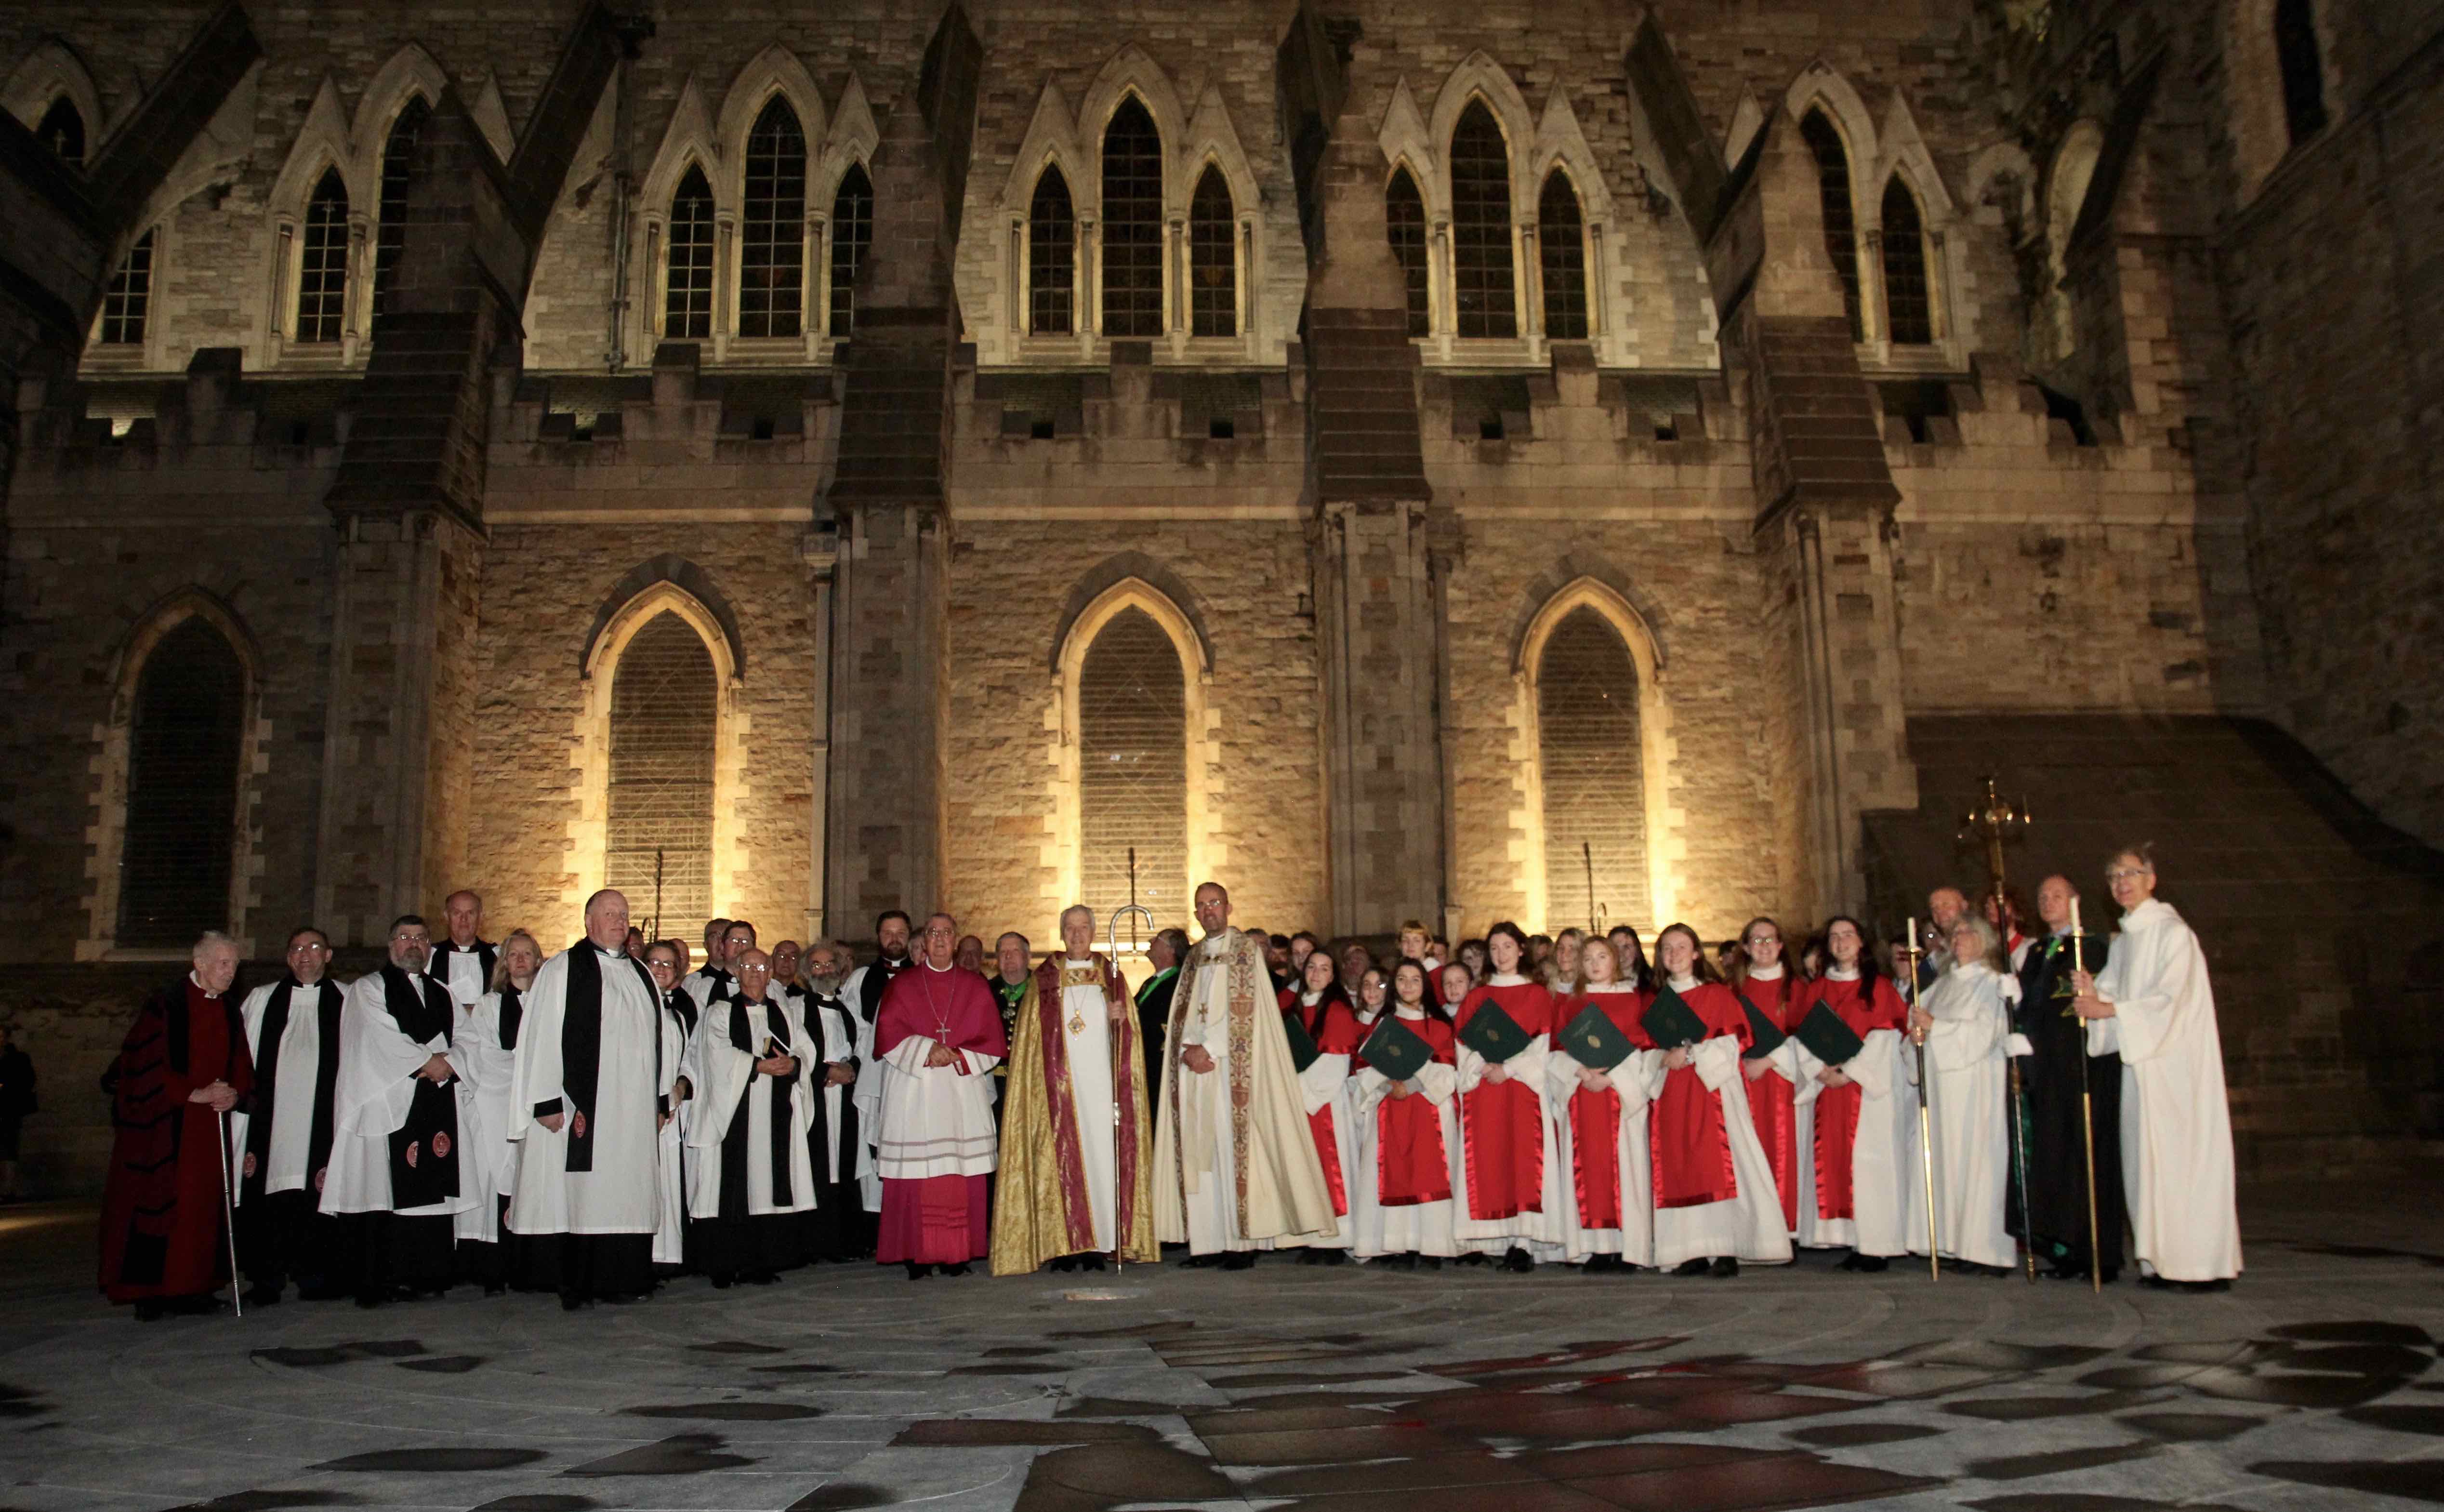
<svg viewBox="0 0 2444 1512"><path fill-rule="evenodd" d="M103 1190L103 1295L137 1319L215 1312L230 1280L222 1114L254 1092L232 1011L237 940L196 940L193 970L144 1001L110 1089L110 1177Z"/></svg>

